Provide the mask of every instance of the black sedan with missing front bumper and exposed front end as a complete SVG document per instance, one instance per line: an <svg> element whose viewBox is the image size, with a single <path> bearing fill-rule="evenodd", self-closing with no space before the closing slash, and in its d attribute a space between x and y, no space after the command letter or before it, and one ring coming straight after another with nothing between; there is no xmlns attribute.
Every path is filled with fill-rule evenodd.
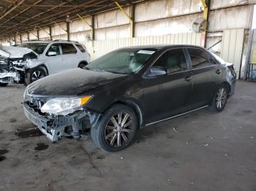
<svg viewBox="0 0 256 191"><path fill-rule="evenodd" d="M116 152L138 128L205 107L221 112L235 82L232 64L202 47L127 47L39 79L26 88L23 106L51 141L90 130L99 148Z"/></svg>

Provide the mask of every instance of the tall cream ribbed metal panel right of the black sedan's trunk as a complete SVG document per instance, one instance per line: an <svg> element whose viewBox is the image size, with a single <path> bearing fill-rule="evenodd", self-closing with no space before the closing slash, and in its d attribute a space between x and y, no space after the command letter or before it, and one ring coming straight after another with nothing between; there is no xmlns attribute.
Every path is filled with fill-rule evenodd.
<svg viewBox="0 0 256 191"><path fill-rule="evenodd" d="M243 44L244 28L223 31L222 50L220 56L225 61L234 64L237 77L239 77Z"/></svg>

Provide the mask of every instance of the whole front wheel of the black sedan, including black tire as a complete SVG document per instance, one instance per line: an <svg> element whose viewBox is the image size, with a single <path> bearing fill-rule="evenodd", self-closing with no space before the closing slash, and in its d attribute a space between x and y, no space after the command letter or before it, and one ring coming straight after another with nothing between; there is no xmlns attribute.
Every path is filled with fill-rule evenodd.
<svg viewBox="0 0 256 191"><path fill-rule="evenodd" d="M129 117L124 120L127 114ZM120 117L119 121L118 117ZM113 118L118 123L118 128L114 125ZM124 124L121 125L122 123L120 121L124 122ZM91 139L97 147L102 150L118 152L129 146L135 136L137 128L138 117L135 112L129 108L129 106L115 104L111 106L110 109L102 115L97 124L91 128ZM119 145L118 140L120 140Z"/></svg>

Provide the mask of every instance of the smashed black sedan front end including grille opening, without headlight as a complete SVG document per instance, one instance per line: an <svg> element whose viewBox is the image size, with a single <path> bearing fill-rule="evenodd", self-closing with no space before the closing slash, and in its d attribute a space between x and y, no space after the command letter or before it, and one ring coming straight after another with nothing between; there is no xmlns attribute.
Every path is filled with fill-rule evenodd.
<svg viewBox="0 0 256 191"><path fill-rule="evenodd" d="M24 93L23 108L26 117L34 125L37 125L50 141L59 141L64 137L80 139L80 135L88 132L99 119L100 114L85 107L76 108L72 112L69 110L70 113L49 114L42 112L44 111L43 106L46 106L48 101L53 100L54 98L31 97L26 94L26 91Z"/></svg>

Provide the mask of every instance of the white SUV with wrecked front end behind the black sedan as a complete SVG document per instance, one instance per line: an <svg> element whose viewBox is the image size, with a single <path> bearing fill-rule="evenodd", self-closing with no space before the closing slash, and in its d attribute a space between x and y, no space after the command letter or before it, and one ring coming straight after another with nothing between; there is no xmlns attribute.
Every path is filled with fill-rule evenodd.
<svg viewBox="0 0 256 191"><path fill-rule="evenodd" d="M18 76L14 77L14 74L5 75L9 77L9 81L5 80L6 83L17 82L18 80L28 85L37 79L59 71L77 67L83 68L91 60L89 52L83 44L64 40L26 42L18 45L18 47L8 47L4 51L12 52L10 57L7 58L9 67L5 69L5 74L8 72L16 73ZM24 52L23 58L20 58L20 52ZM0 69L0 72L3 71ZM2 77L4 77L4 74L2 74ZM1 76L0 83L4 85Z"/></svg>

